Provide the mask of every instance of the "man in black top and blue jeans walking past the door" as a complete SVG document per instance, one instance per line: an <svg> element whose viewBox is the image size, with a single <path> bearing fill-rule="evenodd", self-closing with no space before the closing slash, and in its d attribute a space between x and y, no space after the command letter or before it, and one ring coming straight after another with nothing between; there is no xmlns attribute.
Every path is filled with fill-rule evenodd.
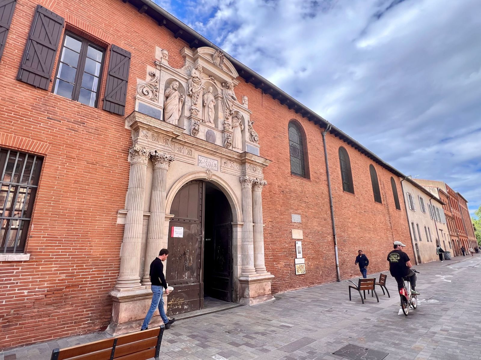
<svg viewBox="0 0 481 360"><path fill-rule="evenodd" d="M148 329L149 323L152 319L152 315L157 308L159 308L160 317L162 318L166 329L168 329L170 325L174 321L176 321L176 319L174 318L169 320L167 318L167 315L165 315L164 311L163 291L165 289L165 295L168 295L169 289L167 288L167 283L165 282L164 264L162 264L162 262L167 259L167 256L169 256L169 251L167 249L162 249L159 252L159 256L157 256L151 263L149 275L152 283L152 303L149 311L147 312L147 315L145 315L145 319L140 330Z"/></svg>

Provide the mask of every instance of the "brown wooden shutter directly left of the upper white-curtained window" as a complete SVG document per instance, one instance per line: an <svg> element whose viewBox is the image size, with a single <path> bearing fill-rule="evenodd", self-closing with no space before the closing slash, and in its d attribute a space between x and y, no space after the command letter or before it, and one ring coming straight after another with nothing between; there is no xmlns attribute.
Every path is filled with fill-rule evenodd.
<svg viewBox="0 0 481 360"><path fill-rule="evenodd" d="M63 21L63 17L37 5L17 80L49 88Z"/></svg>

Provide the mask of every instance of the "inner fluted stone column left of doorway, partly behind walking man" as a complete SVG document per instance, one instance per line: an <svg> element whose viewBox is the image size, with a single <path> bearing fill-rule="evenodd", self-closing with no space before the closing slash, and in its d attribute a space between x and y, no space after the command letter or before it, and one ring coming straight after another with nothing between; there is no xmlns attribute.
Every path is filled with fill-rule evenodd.
<svg viewBox="0 0 481 360"><path fill-rule="evenodd" d="M151 216L147 233L147 248L145 250L144 275L142 285L151 285L149 273L150 264L163 248L163 230L165 223L165 185L167 183L167 170L174 156L159 151L150 153L153 164Z"/></svg>

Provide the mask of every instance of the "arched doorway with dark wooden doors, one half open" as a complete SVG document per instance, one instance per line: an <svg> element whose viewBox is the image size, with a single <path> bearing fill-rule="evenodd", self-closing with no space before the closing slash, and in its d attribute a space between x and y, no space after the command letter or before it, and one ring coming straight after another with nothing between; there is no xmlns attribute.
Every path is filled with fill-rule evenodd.
<svg viewBox="0 0 481 360"><path fill-rule="evenodd" d="M232 211L214 184L191 180L170 208L168 314L203 309L204 296L232 301Z"/></svg>

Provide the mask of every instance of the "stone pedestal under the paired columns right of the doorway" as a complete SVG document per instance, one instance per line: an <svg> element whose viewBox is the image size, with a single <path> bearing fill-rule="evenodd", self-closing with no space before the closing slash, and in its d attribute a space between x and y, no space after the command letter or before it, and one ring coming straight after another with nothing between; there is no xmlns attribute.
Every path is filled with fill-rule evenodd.
<svg viewBox="0 0 481 360"><path fill-rule="evenodd" d="M239 282L241 283L239 303L243 305L254 305L260 302L274 300L271 294L271 281L273 278L274 275L271 273L239 277Z"/></svg>

